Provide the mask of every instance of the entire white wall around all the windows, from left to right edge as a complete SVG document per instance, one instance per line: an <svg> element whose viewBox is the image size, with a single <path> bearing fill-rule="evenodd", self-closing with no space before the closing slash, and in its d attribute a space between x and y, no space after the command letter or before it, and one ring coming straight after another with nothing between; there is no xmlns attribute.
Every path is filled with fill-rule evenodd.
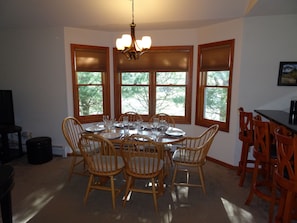
<svg viewBox="0 0 297 223"><path fill-rule="evenodd" d="M198 44L235 39L230 132L217 135L209 155L237 165L241 147L237 108L287 109L287 101L297 93L297 87L276 86L279 61L297 61L296 21L297 15L255 17L199 29L136 30L136 35L151 35L155 46L194 45L192 123ZM0 88L14 91L17 124L33 136L50 136L53 144L66 145L61 122L72 115L70 43L109 46L112 74L112 47L121 34L73 28L1 30L5 53L0 54ZM181 127L189 135L204 129L193 124Z"/></svg>

